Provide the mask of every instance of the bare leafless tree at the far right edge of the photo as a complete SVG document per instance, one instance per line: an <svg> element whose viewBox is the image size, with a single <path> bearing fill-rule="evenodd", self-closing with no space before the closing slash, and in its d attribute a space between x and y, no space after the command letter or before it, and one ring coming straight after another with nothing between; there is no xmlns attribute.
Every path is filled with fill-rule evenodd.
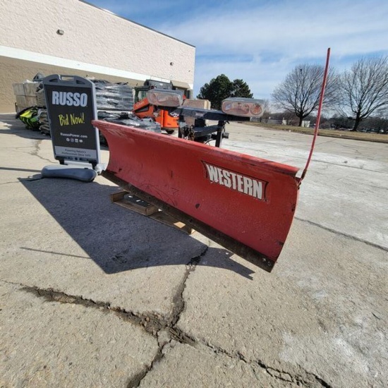
<svg viewBox="0 0 388 388"><path fill-rule="evenodd" d="M373 114L388 109L387 57L360 59L340 80L341 111L354 120L352 131Z"/></svg>

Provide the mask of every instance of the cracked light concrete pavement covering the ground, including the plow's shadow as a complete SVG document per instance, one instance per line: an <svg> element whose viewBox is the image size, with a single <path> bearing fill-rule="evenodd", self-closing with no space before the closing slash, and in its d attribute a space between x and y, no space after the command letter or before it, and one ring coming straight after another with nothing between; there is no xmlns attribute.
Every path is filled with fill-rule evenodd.
<svg viewBox="0 0 388 388"><path fill-rule="evenodd" d="M228 131L301 169L312 139ZM41 179L51 141L13 115L0 135L1 387L386 386L387 144L317 139L268 274L112 204L101 176Z"/></svg>

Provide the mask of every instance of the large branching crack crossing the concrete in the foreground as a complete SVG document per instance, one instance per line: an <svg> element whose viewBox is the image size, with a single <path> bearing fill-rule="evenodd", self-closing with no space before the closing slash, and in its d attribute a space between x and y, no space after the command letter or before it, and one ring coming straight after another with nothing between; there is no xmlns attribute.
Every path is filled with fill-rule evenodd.
<svg viewBox="0 0 388 388"><path fill-rule="evenodd" d="M238 351L236 351L236 353L230 353L229 351L226 351L219 346L210 344L204 339L190 337L189 334L183 332L183 330L176 326L179 318L181 317L181 313L183 313L185 310L183 291L186 288L186 281L190 276L190 273L195 270L195 267L199 264L202 257L206 255L208 248L209 247L206 246L200 255L193 257L186 265L186 272L173 298L174 309L169 317L164 317L157 313L135 314L123 308L112 307L110 303L107 302L93 301L92 299L83 298L82 296L72 296L61 291L55 291L53 289L40 289L37 286L24 286L23 284L16 285L22 286L23 291L33 293L35 296L40 298L45 298L47 301L56 301L59 303L75 303L85 307L97 308L103 313L114 313L123 320L143 327L147 333L151 334L155 339L157 339L158 349L154 355L154 358L152 359L152 362L149 365L145 365L141 372L138 372L138 374L134 375L128 380L126 385L127 388L139 387L142 380L147 376L147 373L154 368L154 365L159 363L164 358L169 349L177 342L195 346L195 348L198 348L199 350L200 348L207 349L207 351L212 351L212 353L219 353L229 358L241 360L243 363L250 365L251 368L258 367L262 370L265 370L265 372L277 380L291 382L303 387L332 388L331 385L325 382L325 380L323 380L321 377L303 370L300 367L298 368L298 374L291 374L285 370L272 368L271 366L266 365L262 360L248 360L248 358L243 356L243 354ZM8 283L8 281L6 281L6 283Z"/></svg>

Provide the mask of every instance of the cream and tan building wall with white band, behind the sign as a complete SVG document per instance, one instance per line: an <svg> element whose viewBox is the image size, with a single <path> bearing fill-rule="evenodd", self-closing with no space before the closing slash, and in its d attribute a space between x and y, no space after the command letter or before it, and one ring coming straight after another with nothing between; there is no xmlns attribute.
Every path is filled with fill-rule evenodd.
<svg viewBox="0 0 388 388"><path fill-rule="evenodd" d="M0 112L14 111L12 84L38 72L193 89L194 67L192 45L83 1L0 1Z"/></svg>

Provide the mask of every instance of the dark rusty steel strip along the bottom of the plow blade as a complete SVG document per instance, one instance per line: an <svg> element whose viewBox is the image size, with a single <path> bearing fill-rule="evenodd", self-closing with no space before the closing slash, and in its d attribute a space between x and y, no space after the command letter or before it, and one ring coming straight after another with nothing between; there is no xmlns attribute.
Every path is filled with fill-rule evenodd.
<svg viewBox="0 0 388 388"><path fill-rule="evenodd" d="M128 191L133 195L136 195L141 200L150 203L150 205L154 205L158 207L160 210L169 214L171 217L174 217L178 221L184 222L186 225L198 231L200 234L210 238L212 241L222 245L227 250L230 250L232 253L236 253L236 255L243 257L243 259L251 262L253 265L257 265L261 269L265 269L267 272L271 272L274 268L275 261L269 260L265 255L262 255L260 252L248 247L243 243L239 243L226 234L223 234L221 231L212 228L211 226L200 222L198 219L191 217L190 215L181 212L181 210L176 209L175 207L171 207L166 202L159 200L153 197L150 194L145 193L143 190L136 188L135 186L123 181L121 178L118 178L116 175L112 174L109 171L102 171L102 176L107 178L109 181L116 183L117 186L123 188L123 190Z"/></svg>

